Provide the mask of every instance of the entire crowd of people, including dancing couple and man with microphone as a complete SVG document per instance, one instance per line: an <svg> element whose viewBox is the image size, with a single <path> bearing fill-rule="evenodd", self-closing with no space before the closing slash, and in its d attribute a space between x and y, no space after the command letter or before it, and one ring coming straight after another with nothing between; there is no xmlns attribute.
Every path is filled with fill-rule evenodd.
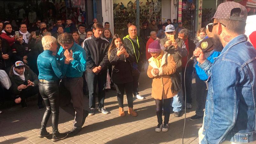
<svg viewBox="0 0 256 144"><path fill-rule="evenodd" d="M227 6L230 9L224 14L221 11ZM153 79L151 96L156 102L155 131L167 132L171 108L175 117L181 116L184 104L192 108L194 75L197 105L190 120L204 118L200 143L252 142L256 140L256 51L244 35L246 17L244 6L235 2L220 4L213 23L201 28L194 40L176 19L168 19L165 24L145 21L139 36L137 27L129 22L124 37L112 35L110 23L103 27L97 19L88 27L76 27L71 19L66 20L66 25L56 20L51 31L40 20L30 30L20 24L18 32L8 21L0 22L1 69L11 81L9 88L1 84L1 98L11 97L26 108L26 98L37 94L39 110L46 106L38 136L49 135L46 125L52 114L52 140L57 141L77 135L95 109L109 113L104 105L107 75L111 77L111 88L117 91L119 115L125 117L125 92L128 114L138 116L133 98L144 99L139 94L138 80L147 69L148 77ZM204 40L213 43L205 52L198 48ZM250 37L250 41L254 40ZM190 61L193 54L196 59ZM86 92L88 111L83 104ZM75 110L73 129L68 134L59 133L59 106L69 104L71 99Z"/></svg>

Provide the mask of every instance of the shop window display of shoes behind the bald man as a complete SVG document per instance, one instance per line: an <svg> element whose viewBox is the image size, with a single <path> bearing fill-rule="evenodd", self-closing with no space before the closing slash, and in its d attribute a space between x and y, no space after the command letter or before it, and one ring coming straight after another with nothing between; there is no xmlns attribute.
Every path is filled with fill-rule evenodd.
<svg viewBox="0 0 256 144"><path fill-rule="evenodd" d="M118 2L117 2L118 1ZM140 25L143 21L150 22L161 18L162 3L161 0L140 1ZM113 0L113 20L115 33L122 35L123 30L127 28L127 23L136 21L136 1L129 1L127 4L120 0Z"/></svg>

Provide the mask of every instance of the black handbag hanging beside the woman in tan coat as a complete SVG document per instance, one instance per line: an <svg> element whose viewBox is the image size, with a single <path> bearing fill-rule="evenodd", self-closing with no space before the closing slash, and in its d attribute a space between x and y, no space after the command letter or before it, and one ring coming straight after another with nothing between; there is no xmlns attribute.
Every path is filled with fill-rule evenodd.
<svg viewBox="0 0 256 144"><path fill-rule="evenodd" d="M166 63L168 63L167 58L168 58L168 54L166 54L166 58L165 58ZM171 90L181 91L181 79L180 79L179 72L176 70L175 73L170 76L172 81Z"/></svg>

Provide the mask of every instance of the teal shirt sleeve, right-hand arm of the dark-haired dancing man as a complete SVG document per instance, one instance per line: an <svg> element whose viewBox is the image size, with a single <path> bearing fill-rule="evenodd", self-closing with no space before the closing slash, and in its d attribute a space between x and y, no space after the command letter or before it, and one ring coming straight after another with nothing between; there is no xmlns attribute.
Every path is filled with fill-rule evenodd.
<svg viewBox="0 0 256 144"><path fill-rule="evenodd" d="M76 56L75 56L76 55ZM85 72L86 70L86 55L84 49L79 54L73 54L74 60L71 61L72 67L79 72Z"/></svg>

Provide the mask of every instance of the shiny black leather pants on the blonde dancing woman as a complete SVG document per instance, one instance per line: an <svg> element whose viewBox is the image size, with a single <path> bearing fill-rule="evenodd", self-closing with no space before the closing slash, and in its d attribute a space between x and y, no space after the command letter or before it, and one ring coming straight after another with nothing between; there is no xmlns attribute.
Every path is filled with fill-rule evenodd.
<svg viewBox="0 0 256 144"><path fill-rule="evenodd" d="M52 132L53 134L58 132L59 121L59 86L57 81L52 82L40 82L39 91L44 100L46 111L41 123L41 129L46 128L49 117L52 113Z"/></svg>

